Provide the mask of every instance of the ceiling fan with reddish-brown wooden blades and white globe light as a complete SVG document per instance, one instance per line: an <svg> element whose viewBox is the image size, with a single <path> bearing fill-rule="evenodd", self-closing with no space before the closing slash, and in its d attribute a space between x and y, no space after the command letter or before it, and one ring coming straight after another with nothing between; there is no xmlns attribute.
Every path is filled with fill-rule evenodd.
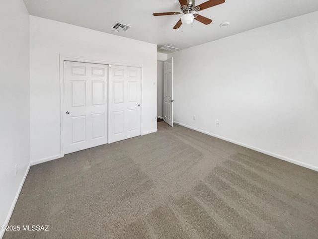
<svg viewBox="0 0 318 239"><path fill-rule="evenodd" d="M200 5L195 5L195 0L179 0L180 2L180 9L182 12L159 12L159 13L154 13L154 16L164 16L164 15L178 15L178 14L182 14L183 16L181 17L181 19L177 22L177 24L175 24L175 26L173 27L173 29L177 29L179 28L182 23L183 24L191 24L193 22L193 19L196 19L199 22L202 22L206 25L210 24L212 22L211 19L206 18L204 16L201 16L199 14L192 14L192 11L200 11L215 5L219 5L221 3L224 3L225 0L209 0L206 1Z"/></svg>

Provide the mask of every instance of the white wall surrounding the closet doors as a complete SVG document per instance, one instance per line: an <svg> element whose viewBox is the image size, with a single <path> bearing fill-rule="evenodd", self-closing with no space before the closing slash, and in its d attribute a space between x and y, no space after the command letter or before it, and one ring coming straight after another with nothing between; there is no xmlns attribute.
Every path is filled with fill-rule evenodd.
<svg viewBox="0 0 318 239"><path fill-rule="evenodd" d="M30 35L31 163L60 156L59 54L142 65L141 130L157 131L156 45L35 16Z"/></svg>

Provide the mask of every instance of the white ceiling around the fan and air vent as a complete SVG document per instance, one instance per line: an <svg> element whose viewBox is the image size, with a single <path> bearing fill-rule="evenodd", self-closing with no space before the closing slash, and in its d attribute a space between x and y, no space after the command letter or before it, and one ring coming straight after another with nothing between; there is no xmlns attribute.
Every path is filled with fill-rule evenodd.
<svg viewBox="0 0 318 239"><path fill-rule="evenodd" d="M196 0L199 5L206 0ZM153 16L154 12L180 11L178 0L24 0L31 15L97 31L180 49L196 46L270 23L318 11L318 0L226 0L202 10L210 25L172 29L181 15ZM112 29L115 22L132 26ZM221 28L222 22L231 25ZM183 30L183 32L182 32ZM165 52L165 51L161 51ZM166 52L165 52L166 53Z"/></svg>

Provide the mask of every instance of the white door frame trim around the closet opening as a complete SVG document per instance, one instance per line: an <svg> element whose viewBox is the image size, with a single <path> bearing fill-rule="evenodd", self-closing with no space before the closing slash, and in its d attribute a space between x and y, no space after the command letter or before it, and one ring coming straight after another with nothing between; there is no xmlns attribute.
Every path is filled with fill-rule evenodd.
<svg viewBox="0 0 318 239"><path fill-rule="evenodd" d="M80 58L80 57L71 57L71 56L64 56L60 54L60 157L57 157L57 159L63 158L65 156L64 61L141 68L141 102L143 101L143 65L136 65L136 64L130 64L130 63L123 63L123 62L110 62L110 61L87 59L87 58ZM108 84L108 80L107 80L107 84ZM108 104L108 99L107 99L107 104ZM142 115L143 107L141 107L140 110ZM143 119L141 118L140 126L142 126L142 121Z"/></svg>

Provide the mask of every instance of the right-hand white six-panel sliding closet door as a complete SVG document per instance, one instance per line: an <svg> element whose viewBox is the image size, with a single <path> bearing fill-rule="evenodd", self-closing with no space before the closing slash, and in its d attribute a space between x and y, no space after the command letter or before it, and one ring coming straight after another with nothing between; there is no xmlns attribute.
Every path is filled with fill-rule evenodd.
<svg viewBox="0 0 318 239"><path fill-rule="evenodd" d="M109 65L108 142L141 135L141 68Z"/></svg>

